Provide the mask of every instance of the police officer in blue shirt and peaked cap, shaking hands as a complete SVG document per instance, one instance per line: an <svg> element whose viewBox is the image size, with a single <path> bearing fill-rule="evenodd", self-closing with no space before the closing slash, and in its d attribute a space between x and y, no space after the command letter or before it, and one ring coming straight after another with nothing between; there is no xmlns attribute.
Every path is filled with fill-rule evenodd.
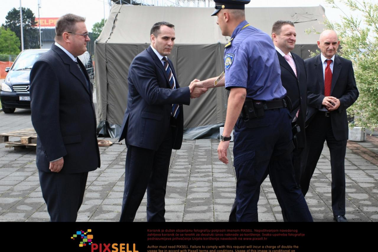
<svg viewBox="0 0 378 252"><path fill-rule="evenodd" d="M249 2L217 0L212 14L218 17L222 35L231 36L225 46L225 78L217 84L230 90L218 157L228 163L234 129L237 221L258 221L260 185L268 174L288 221L312 221L294 179L290 103L285 99L276 49L268 34L245 20ZM215 79L203 81L204 86L214 86Z"/></svg>

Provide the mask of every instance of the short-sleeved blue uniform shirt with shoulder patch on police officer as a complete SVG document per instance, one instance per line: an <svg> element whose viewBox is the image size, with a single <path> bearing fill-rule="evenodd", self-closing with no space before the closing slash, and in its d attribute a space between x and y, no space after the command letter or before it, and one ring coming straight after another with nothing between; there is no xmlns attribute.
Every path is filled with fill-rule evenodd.
<svg viewBox="0 0 378 252"><path fill-rule="evenodd" d="M281 83L281 70L276 48L268 34L241 22L225 48L225 86L244 87L247 98L270 101L281 99L286 89Z"/></svg>

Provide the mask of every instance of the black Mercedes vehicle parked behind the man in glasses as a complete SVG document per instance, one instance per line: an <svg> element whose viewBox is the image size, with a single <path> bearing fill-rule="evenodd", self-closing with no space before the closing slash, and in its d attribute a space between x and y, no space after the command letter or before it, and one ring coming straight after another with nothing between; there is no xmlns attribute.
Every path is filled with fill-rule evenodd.
<svg viewBox="0 0 378 252"><path fill-rule="evenodd" d="M17 56L0 86L0 101L4 113L13 113L15 108L30 109L29 75L37 59L48 49L29 49Z"/></svg>

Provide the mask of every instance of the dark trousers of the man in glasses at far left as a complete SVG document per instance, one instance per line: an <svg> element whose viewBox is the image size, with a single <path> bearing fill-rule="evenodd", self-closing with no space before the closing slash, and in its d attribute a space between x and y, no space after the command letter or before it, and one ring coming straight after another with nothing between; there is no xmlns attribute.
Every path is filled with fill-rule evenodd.
<svg viewBox="0 0 378 252"><path fill-rule="evenodd" d="M83 202L88 172L39 172L42 196L47 204L51 221L76 221L77 211Z"/></svg>

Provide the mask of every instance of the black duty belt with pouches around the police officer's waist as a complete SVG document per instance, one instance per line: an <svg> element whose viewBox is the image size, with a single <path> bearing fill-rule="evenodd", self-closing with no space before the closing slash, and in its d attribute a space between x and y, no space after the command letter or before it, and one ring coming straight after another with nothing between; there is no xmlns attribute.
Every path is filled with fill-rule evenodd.
<svg viewBox="0 0 378 252"><path fill-rule="evenodd" d="M240 112L239 118L243 118L244 121L248 121L253 118L262 118L264 116L265 110L270 109L280 109L287 107L291 110L290 99L285 97L285 99L278 99L272 101L257 101L252 99L246 99L242 112Z"/></svg>

